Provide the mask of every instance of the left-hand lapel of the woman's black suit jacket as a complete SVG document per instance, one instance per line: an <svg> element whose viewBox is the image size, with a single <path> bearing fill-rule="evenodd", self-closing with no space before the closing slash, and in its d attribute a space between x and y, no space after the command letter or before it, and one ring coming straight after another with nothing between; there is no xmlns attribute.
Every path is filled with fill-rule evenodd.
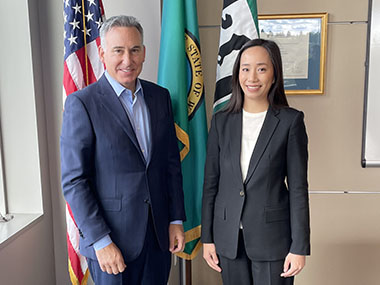
<svg viewBox="0 0 380 285"><path fill-rule="evenodd" d="M243 183L241 166L240 166L240 153L241 153L241 136L242 136L242 112L233 113L230 115L230 152L233 176L237 179L238 185Z"/></svg>

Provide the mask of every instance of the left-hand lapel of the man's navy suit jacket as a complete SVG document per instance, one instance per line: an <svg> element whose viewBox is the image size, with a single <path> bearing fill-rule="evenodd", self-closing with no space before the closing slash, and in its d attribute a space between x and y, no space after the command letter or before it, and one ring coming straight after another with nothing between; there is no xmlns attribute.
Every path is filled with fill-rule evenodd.
<svg viewBox="0 0 380 285"><path fill-rule="evenodd" d="M111 85L108 83L104 75L99 79L98 83L101 87L101 104L105 107L107 111L111 113L111 115L115 118L116 122L127 133L127 135L129 136L133 144L136 146L138 151L141 152L131 122L129 121L128 115L126 114L119 98L115 94L115 91L112 89Z"/></svg>

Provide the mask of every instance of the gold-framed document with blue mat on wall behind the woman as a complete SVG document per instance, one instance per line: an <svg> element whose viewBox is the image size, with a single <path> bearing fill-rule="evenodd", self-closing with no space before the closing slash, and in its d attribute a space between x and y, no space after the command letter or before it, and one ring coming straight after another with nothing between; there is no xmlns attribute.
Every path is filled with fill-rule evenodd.
<svg viewBox="0 0 380 285"><path fill-rule="evenodd" d="M259 30L280 47L287 95L324 93L327 13L259 15Z"/></svg>

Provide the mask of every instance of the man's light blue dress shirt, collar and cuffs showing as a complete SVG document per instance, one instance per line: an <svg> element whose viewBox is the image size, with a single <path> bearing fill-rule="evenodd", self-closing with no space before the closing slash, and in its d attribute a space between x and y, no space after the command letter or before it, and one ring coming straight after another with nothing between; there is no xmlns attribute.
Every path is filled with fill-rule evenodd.
<svg viewBox="0 0 380 285"><path fill-rule="evenodd" d="M145 161L149 162L151 146L150 118L148 108L145 104L144 92L141 87L140 80L136 80L136 90L133 94L134 96L132 96L132 91L113 79L107 71L105 71L104 74L128 115ZM182 224L182 221L172 221L171 224ZM94 249L102 249L111 243L112 240L110 236L106 235L94 243Z"/></svg>

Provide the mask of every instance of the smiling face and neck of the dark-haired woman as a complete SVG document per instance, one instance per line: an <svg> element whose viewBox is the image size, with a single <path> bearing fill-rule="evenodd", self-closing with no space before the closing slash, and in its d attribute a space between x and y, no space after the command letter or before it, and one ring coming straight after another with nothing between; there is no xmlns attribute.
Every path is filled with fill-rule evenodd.
<svg viewBox="0 0 380 285"><path fill-rule="evenodd" d="M268 103L268 92L274 82L274 69L268 52L261 46L246 49L240 59L239 83L244 104Z"/></svg>

